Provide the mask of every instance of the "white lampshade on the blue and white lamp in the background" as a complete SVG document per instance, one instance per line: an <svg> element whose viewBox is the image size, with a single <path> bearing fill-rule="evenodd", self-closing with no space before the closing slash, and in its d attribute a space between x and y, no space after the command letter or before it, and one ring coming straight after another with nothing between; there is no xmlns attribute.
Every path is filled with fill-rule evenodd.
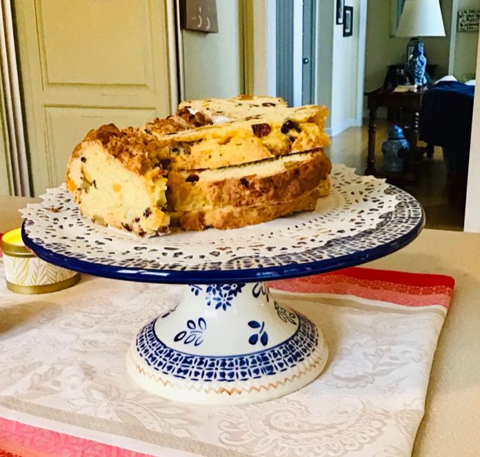
<svg viewBox="0 0 480 457"><path fill-rule="evenodd" d="M397 37L445 37L439 0L407 0Z"/></svg>

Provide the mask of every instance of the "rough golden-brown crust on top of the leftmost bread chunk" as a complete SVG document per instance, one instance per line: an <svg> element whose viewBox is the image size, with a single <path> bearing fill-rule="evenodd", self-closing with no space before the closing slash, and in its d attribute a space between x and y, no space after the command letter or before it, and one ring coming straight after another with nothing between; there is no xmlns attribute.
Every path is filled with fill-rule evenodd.
<svg viewBox="0 0 480 457"><path fill-rule="evenodd" d="M90 130L83 141L75 146L70 159L79 157L83 147L91 142L100 143L107 153L137 175L144 175L152 168L162 168L157 159L161 144L139 128L119 129L114 124L107 124Z"/></svg>

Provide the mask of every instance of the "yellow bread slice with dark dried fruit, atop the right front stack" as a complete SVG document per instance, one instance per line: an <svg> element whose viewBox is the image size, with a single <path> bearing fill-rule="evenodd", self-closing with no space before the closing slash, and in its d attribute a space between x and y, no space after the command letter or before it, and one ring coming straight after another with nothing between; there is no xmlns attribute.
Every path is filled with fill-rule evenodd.
<svg viewBox="0 0 480 457"><path fill-rule="evenodd" d="M327 114L324 106L282 105L266 113L178 133L165 133L155 121L146 124L145 130L159 139L163 146L159 154L171 160L172 170L199 170L324 148L330 144L323 131Z"/></svg>

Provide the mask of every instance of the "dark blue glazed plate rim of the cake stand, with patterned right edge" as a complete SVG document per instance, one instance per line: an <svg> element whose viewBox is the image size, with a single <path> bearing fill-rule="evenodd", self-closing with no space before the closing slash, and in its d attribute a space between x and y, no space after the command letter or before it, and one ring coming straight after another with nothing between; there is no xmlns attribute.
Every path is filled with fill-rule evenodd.
<svg viewBox="0 0 480 457"><path fill-rule="evenodd" d="M425 225L425 213L421 204L412 197L412 195L402 191L394 186L389 186L390 192L394 192L399 197L399 204L392 213L388 214L386 222L379 224L381 231L394 231L398 225L404 222L402 216L399 214L399 207L414 206L414 213L417 215L414 220L410 221L410 227L404 233L399 233L399 236L393 237L383 244L374 246L368 249L354 250L352 253L345 255L334 256L331 258L323 258L313 262L285 262L282 265L265 266L251 269L188 269L183 267L181 270L165 270L165 269L139 269L128 266L117 266L111 264L100 264L97 262L90 262L81 260L77 257L71 257L61 253L57 253L52 249L47 249L41 244L34 242L28 233L26 233L27 221L23 222L21 229L21 236L25 245L31 249L38 257L46 262L50 262L63 268L79 271L88 275L101 276L103 278L112 278L117 280L128 280L137 282L159 282L168 284L222 284L234 282L257 282L257 281L271 281L279 279L297 278L299 276L308 276L318 273L327 273L328 271L340 270L349 266L356 266L371 260L385 257L395 251L399 251L403 247L412 242L421 232ZM401 212L400 212L401 213ZM353 237L341 237L337 240L332 240L327 244L319 247L312 247L308 249L310 255L314 255L315 251L321 253L330 246L348 246L349 243L368 242L375 240L377 235L377 228L361 232Z"/></svg>

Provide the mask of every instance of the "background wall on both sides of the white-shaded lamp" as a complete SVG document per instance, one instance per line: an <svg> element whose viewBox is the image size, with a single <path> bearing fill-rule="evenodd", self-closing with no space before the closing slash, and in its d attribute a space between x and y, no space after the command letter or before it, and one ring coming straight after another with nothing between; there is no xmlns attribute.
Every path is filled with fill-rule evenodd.
<svg viewBox="0 0 480 457"><path fill-rule="evenodd" d="M439 65L437 78L448 72L452 0L441 0L440 5L447 37L424 39L428 61ZM390 0L368 0L365 90L379 88L387 66L406 60L408 41L408 38L390 37Z"/></svg>

